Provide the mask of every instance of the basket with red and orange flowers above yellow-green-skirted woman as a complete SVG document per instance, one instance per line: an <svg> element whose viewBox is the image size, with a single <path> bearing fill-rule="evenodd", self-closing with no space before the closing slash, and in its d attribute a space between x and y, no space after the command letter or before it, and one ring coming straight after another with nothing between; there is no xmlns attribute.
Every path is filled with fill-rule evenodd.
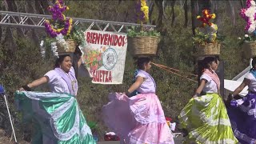
<svg viewBox="0 0 256 144"><path fill-rule="evenodd" d="M220 42L222 37L217 34L218 26L211 19L216 18L215 14L210 14L210 10L202 10L202 16L198 15L197 19L202 22L202 26L195 29L193 38L198 56L219 55Z"/></svg>

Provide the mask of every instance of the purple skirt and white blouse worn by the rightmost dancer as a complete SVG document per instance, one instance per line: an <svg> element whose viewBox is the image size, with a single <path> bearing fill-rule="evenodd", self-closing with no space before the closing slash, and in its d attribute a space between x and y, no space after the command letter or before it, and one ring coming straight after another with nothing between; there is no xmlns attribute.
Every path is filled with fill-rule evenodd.
<svg viewBox="0 0 256 144"><path fill-rule="evenodd" d="M250 80L249 94L242 98L242 104L230 106L227 111L234 135L242 144L256 143L256 71L250 71L246 78Z"/></svg>

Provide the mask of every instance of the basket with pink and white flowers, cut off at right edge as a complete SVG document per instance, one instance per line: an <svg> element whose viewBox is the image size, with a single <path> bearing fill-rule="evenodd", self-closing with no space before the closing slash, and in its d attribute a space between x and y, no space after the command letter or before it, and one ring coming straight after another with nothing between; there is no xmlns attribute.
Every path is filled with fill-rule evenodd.
<svg viewBox="0 0 256 144"><path fill-rule="evenodd" d="M244 52L247 57L256 56L256 5L254 0L246 1L246 8L241 9L240 15L246 20L246 32L244 38L242 39L242 44L244 46Z"/></svg>

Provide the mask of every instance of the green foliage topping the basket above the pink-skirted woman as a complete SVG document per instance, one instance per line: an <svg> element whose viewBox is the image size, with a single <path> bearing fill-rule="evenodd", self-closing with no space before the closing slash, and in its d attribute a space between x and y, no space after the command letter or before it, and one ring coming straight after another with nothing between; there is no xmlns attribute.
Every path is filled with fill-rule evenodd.
<svg viewBox="0 0 256 144"><path fill-rule="evenodd" d="M160 32L156 30L141 30L141 28L136 28L135 26L131 26L131 29L127 30L128 37L134 38L138 36L152 36L152 37L160 37Z"/></svg>

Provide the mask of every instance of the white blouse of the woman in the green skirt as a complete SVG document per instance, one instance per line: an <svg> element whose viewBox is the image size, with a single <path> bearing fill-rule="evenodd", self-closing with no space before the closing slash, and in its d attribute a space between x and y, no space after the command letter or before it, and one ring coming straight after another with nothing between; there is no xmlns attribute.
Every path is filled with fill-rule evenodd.
<svg viewBox="0 0 256 144"><path fill-rule="evenodd" d="M74 73L73 66L70 69L70 73ZM55 71L48 71L45 76L49 78L48 84L50 85L50 90L54 93L67 93L70 94L69 87L66 81ZM70 77L72 78L72 77ZM77 95L78 90L75 90L75 95Z"/></svg>

